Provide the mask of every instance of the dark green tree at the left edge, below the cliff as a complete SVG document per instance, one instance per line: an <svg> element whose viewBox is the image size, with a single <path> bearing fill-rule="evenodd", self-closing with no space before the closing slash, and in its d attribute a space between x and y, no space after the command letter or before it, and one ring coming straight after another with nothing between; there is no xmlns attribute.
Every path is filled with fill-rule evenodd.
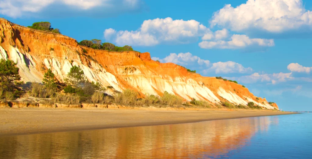
<svg viewBox="0 0 312 159"><path fill-rule="evenodd" d="M0 87L3 91L13 92L15 95L20 94L21 89L18 87L23 84L21 76L18 74L19 68L12 60L0 60Z"/></svg>

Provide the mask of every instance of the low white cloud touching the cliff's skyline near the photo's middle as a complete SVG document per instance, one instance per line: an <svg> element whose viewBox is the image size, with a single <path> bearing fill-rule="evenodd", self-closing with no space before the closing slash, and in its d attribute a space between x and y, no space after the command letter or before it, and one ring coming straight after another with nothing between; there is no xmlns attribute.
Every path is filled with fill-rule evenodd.
<svg viewBox="0 0 312 159"><path fill-rule="evenodd" d="M194 56L191 53L170 53L169 56L166 56L163 59L152 57L153 60L159 60L162 63L175 63L175 64L182 64L182 65L189 65L189 64L198 64L198 65L204 65L209 66L210 61L209 60L203 60L199 58L198 56Z"/></svg>

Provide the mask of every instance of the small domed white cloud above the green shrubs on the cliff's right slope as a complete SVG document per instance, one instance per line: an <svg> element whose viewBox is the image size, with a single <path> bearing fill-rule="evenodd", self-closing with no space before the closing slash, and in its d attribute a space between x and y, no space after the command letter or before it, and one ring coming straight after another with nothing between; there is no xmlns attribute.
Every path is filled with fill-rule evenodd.
<svg viewBox="0 0 312 159"><path fill-rule="evenodd" d="M228 61L228 62L217 62L213 63L211 68L204 70L204 73L215 72L218 73L250 73L252 68L244 68L243 65Z"/></svg>

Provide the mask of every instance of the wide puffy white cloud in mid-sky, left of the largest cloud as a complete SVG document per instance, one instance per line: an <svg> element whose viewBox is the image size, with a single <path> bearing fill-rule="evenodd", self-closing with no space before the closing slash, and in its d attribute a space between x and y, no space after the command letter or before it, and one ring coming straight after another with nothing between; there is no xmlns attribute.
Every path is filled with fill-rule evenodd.
<svg viewBox="0 0 312 159"><path fill-rule="evenodd" d="M113 30L113 29L109 29ZM107 34L104 31L104 36ZM153 46L160 43L188 44L196 42L210 30L195 20L165 19L145 20L141 27L135 31L121 30L115 36L105 36L105 40L117 45Z"/></svg>

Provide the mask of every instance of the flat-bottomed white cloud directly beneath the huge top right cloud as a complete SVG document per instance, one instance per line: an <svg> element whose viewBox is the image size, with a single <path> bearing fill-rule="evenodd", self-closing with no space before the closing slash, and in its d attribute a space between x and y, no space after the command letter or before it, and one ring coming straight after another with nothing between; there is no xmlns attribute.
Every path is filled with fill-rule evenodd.
<svg viewBox="0 0 312 159"><path fill-rule="evenodd" d="M242 49L251 46L271 47L273 39L250 39L246 35L232 35L230 40L202 41L199 44L202 49Z"/></svg>

